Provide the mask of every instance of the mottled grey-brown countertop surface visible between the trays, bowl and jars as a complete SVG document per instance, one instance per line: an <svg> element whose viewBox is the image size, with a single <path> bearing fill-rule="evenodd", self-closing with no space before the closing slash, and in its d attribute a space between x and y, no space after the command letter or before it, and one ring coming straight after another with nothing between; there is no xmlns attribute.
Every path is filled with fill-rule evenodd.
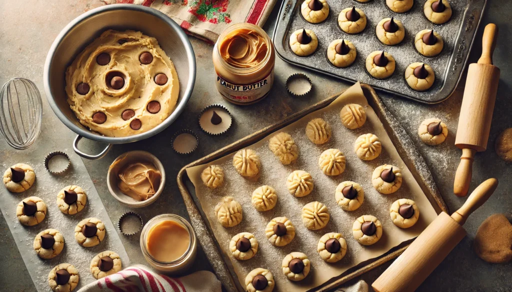
<svg viewBox="0 0 512 292"><path fill-rule="evenodd" d="M84 11L101 5L102 2L98 0L73 2L66 0L44 2L33 0L4 1L0 4L0 16L2 18L0 38L3 40L2 46L0 46L0 82L3 84L12 77L25 77L36 83L44 104L41 134L52 135L55 139L60 139L62 145L61 149L48 149L48 151L63 150L71 153L73 151L71 144L75 134L60 123L46 102L42 85L42 72L46 54L58 32L70 20ZM280 5L281 1L278 1L265 26L265 30L269 34L273 31ZM501 78L488 149L476 155L470 190L473 190L479 183L489 177L498 178L500 185L489 201L465 223L464 227L468 236L426 279L418 288L418 291L507 291L512 286L512 279L510 278L511 264L488 264L475 255L472 246L476 230L485 218L494 213L505 213L509 218L512 215L512 197L509 195L509 189L512 188L511 167L501 161L494 151L494 142L498 134L503 129L512 127L512 115L510 115L512 102L509 100L510 87L512 86L512 71L510 71L512 63L509 62L509 56L512 55L512 47L509 46L509 41L512 39L509 24L511 12L512 2L488 0L487 9L482 20L483 25L478 33L478 36L481 37L484 25L489 22L498 25L500 36L494 54L494 63L501 69ZM252 106L232 105L222 99L215 89L214 70L211 61L212 46L194 37L190 37L190 41L196 53L196 61L200 65L198 65L193 96L179 119L155 137L136 143L116 145L105 158L99 161L84 160L103 204L106 210L109 211L110 219L114 223L117 222L122 213L131 210L120 205L110 195L105 181L109 165L121 153L136 149L147 150L155 154L165 166L167 184L161 197L149 207L134 210L142 215L145 222L161 213L175 213L187 217L175 179L178 171L184 165L243 138L247 134L278 122L284 117L351 85L344 81L297 68L276 58L275 82L270 96ZM481 40L477 39L470 57L471 62L476 62L478 59L480 48ZM286 78L295 72L303 72L310 76L314 84L313 94L306 98L297 99L286 93L284 86ZM424 156L435 182L452 212L462 206L465 200L465 198L458 198L452 193L455 170L461 154L461 151L454 146L454 141L463 85L464 82L462 81L456 93L450 99L437 105L419 104L378 92L391 113L401 121L402 126L413 138L415 146ZM221 137L208 136L200 130L197 123L200 111L212 103L225 105L231 111L235 120L232 128ZM261 119L262 113L266 113L265 119ZM429 117L440 118L449 127L450 133L446 142L437 147L424 145L417 137L417 127L423 119ZM191 129L199 136L200 146L193 155L178 155L170 147L170 138L177 130L182 128ZM8 148L3 140L0 141L0 146L2 146L0 147L2 148L0 154L3 154L3 158L6 157L5 154L9 151L14 151L12 148ZM101 145L95 142L83 141L81 147L88 151L97 151ZM14 164L16 162L4 161L3 159L2 163ZM5 218L2 215L0 216L2 217L0 219L0 243L3 246L3 253L0 254L0 266L9 267L3 268L0 272L0 283L2 283L0 291L35 291L34 284L9 232ZM138 237L133 239L121 237L121 240L133 264L145 263L140 252ZM355 280L364 279L371 283L388 266L389 263L382 265ZM199 253L193 267L193 270L198 269L211 269L206 263L202 251Z"/></svg>

